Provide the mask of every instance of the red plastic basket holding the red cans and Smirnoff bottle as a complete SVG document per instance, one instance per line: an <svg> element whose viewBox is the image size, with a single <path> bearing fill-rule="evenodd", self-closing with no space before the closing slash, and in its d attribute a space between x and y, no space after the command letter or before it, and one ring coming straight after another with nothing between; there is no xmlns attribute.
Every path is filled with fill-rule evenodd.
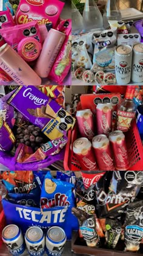
<svg viewBox="0 0 143 256"><path fill-rule="evenodd" d="M68 143L65 149L64 157L65 171L81 171L81 166L79 165L76 155L70 149L72 148L70 146L73 144L73 141L75 141L76 138L78 138L77 126L75 126L72 131L68 131ZM127 140L128 155L131 163L129 168L130 171L143 171L143 146L135 120L133 121L131 129L125 133L125 138Z"/></svg>

